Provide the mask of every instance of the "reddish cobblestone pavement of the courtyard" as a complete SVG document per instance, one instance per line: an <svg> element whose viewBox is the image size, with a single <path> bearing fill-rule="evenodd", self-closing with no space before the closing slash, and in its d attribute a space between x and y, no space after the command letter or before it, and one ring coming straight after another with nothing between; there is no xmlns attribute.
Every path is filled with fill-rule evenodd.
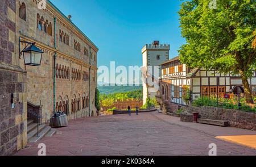
<svg viewBox="0 0 256 167"><path fill-rule="evenodd" d="M156 114L151 112L130 117L125 114L72 120L68 127L58 128L56 135L30 143L28 148L16 155L38 155L39 143L46 144L48 156L207 156L210 143L217 145L217 155L256 155L256 149L168 123L156 117Z"/></svg>

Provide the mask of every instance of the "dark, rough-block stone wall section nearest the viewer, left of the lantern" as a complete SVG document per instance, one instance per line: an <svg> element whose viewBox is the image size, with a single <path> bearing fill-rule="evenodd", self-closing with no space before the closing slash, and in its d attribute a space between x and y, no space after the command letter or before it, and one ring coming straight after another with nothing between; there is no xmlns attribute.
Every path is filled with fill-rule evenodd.
<svg viewBox="0 0 256 167"><path fill-rule="evenodd" d="M0 156L27 145L26 72L17 66L15 52L16 1L0 3ZM14 107L12 97L16 94Z"/></svg>

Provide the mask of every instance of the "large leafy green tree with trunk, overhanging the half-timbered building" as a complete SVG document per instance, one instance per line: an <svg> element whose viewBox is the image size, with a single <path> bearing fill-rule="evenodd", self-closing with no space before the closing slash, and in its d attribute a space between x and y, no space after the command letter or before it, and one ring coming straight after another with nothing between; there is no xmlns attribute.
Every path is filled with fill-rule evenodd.
<svg viewBox="0 0 256 167"><path fill-rule="evenodd" d="M240 74L246 101L253 103L248 78L256 66L255 0L217 0L217 9L209 2L182 3L180 27L187 44L179 51L180 60L192 68Z"/></svg>

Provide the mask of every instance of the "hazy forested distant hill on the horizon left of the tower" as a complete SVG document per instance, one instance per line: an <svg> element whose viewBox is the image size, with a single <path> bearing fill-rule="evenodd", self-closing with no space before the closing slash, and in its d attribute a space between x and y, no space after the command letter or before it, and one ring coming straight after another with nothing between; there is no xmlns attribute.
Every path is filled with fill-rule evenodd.
<svg viewBox="0 0 256 167"><path fill-rule="evenodd" d="M98 86L98 90L100 90L101 94L112 94L142 90L142 86Z"/></svg>

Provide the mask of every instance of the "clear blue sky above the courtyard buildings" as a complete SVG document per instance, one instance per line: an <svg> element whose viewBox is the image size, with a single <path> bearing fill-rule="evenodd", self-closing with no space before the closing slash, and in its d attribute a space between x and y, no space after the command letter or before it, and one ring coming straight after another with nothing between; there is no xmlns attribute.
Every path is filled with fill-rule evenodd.
<svg viewBox="0 0 256 167"><path fill-rule="evenodd" d="M98 66L142 65L141 49L160 40L170 59L185 43L179 28L179 0L51 0L100 49Z"/></svg>

